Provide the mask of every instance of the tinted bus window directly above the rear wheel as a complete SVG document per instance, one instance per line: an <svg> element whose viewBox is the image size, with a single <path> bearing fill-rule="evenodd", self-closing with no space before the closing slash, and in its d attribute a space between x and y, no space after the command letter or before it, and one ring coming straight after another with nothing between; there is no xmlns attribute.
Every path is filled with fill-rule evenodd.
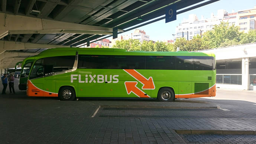
<svg viewBox="0 0 256 144"><path fill-rule="evenodd" d="M175 56L146 56L146 69L175 69Z"/></svg>

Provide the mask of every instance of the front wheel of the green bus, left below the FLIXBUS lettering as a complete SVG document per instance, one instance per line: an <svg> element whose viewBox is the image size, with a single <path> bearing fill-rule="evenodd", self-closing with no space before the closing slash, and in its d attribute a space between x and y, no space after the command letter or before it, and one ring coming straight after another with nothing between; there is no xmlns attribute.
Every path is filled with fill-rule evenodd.
<svg viewBox="0 0 256 144"><path fill-rule="evenodd" d="M71 86L63 86L59 89L58 96L62 101L73 101L75 99L75 90Z"/></svg>

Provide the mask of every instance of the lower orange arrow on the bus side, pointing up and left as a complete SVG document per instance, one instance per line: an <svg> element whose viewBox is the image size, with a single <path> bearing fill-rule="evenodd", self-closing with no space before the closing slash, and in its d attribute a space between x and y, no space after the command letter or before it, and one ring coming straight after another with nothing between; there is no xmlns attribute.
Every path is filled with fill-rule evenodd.
<svg viewBox="0 0 256 144"><path fill-rule="evenodd" d="M140 90L136 85L138 82L124 82L127 94L133 92L135 95L141 98L150 98L147 94L145 94L142 90Z"/></svg>

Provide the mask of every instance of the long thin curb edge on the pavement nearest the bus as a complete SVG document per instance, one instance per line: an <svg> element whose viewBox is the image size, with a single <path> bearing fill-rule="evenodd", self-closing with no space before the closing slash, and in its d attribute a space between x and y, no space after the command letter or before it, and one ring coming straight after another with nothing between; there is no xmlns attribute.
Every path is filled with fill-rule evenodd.
<svg viewBox="0 0 256 144"><path fill-rule="evenodd" d="M172 106L130 106L130 105L100 105L102 108L163 108L163 109L219 109L219 107L172 107Z"/></svg>

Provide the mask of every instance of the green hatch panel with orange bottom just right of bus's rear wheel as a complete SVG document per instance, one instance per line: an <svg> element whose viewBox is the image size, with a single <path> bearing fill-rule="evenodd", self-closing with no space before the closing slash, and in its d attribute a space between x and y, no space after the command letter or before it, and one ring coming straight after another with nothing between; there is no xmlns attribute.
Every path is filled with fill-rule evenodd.
<svg viewBox="0 0 256 144"><path fill-rule="evenodd" d="M191 82L179 82L179 98L191 98Z"/></svg>

